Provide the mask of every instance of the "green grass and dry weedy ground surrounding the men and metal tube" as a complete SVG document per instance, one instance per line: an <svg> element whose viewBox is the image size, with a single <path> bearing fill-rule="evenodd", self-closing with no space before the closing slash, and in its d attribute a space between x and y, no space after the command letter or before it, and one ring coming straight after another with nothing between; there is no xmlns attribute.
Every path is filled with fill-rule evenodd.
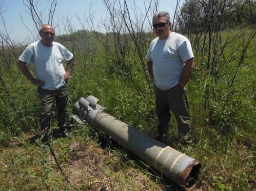
<svg viewBox="0 0 256 191"><path fill-rule="evenodd" d="M191 191L256 191L256 44L255 39L250 42L239 65L241 43L242 39L237 39L217 62L206 62L204 54L196 54L187 90L194 141L191 145L179 142L174 118L164 139L167 145L201 162L199 180ZM70 42L63 44L72 47ZM0 58L0 191L184 190L102 132L71 121L73 104L80 97L93 95L119 120L152 137L157 132L153 87L145 79L136 51L124 57L130 68L123 69L114 48L113 54L106 54L99 43L95 46L82 49L75 44L76 64L68 83L68 122L73 138L50 141L70 183L50 149L39 140L30 141L39 131L36 87L20 74L12 52L10 65ZM16 51L19 55L22 50ZM86 59L84 55L88 55ZM213 63L215 67L208 67ZM217 74L211 75L212 70ZM55 113L51 126L57 127Z"/></svg>

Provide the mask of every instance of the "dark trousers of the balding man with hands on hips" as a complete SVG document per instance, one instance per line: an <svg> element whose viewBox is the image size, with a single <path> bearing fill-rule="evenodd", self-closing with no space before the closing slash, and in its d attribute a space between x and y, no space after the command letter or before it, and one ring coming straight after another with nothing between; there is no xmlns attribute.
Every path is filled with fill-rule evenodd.
<svg viewBox="0 0 256 191"><path fill-rule="evenodd" d="M56 90L47 90L38 88L39 98L41 100L41 130L49 130L46 127L49 126L51 111L54 106L54 102L57 107L58 114L58 126L60 130L65 129L66 111L68 104L68 88L64 84L62 87ZM49 128L49 127L48 127Z"/></svg>

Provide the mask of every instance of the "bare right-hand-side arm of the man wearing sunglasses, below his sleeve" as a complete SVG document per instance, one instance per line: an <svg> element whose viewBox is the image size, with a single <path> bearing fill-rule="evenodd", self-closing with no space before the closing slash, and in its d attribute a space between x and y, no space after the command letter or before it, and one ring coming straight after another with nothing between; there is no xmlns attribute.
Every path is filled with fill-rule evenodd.
<svg viewBox="0 0 256 191"><path fill-rule="evenodd" d="M192 71L194 69L195 62L194 58L190 58L185 62L185 65L182 69L181 77L179 79L179 85L184 88L192 75Z"/></svg>

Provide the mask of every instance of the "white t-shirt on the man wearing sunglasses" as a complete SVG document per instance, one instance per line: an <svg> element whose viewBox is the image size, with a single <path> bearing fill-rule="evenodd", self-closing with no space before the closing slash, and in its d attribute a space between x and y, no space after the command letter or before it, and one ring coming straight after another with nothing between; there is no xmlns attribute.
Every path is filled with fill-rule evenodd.
<svg viewBox="0 0 256 191"><path fill-rule="evenodd" d="M155 85L162 90L175 87L184 62L193 57L191 44L185 36L172 32L166 39L155 38L146 55L146 60L153 62Z"/></svg>

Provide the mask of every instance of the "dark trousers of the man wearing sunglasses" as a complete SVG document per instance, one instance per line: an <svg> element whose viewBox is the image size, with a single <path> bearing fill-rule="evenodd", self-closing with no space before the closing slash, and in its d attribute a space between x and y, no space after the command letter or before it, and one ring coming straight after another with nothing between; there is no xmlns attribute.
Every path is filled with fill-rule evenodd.
<svg viewBox="0 0 256 191"><path fill-rule="evenodd" d="M171 113L174 114L177 124L178 133L187 141L191 139L191 119L188 111L188 100L186 91L179 85L167 90L161 90L154 85L156 108L158 115L158 133L166 133Z"/></svg>

